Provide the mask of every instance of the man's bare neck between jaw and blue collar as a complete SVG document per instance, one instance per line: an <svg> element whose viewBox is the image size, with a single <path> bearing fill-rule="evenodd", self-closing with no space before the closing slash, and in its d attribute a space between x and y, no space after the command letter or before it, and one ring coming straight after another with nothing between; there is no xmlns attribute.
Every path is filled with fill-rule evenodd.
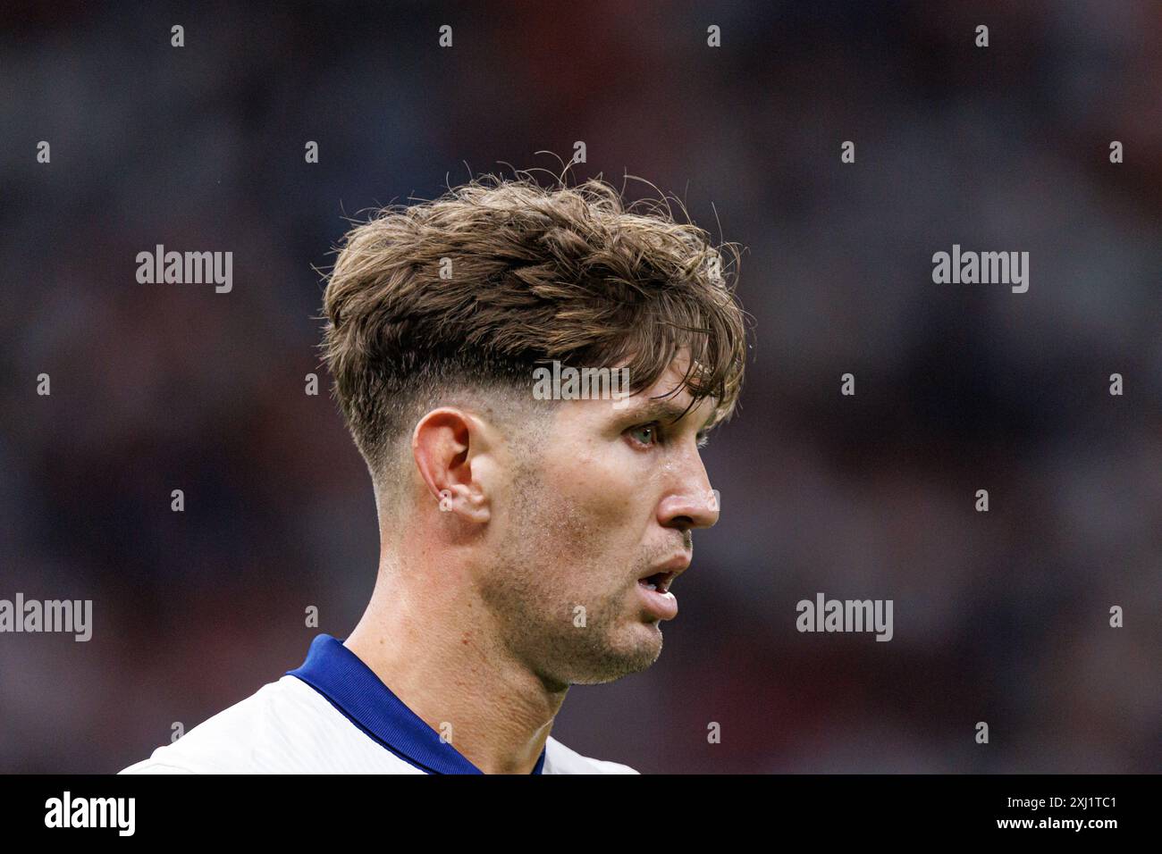
<svg viewBox="0 0 1162 854"><path fill-rule="evenodd" d="M532 772L568 690L514 659L464 567L385 555L344 646L486 774Z"/></svg>

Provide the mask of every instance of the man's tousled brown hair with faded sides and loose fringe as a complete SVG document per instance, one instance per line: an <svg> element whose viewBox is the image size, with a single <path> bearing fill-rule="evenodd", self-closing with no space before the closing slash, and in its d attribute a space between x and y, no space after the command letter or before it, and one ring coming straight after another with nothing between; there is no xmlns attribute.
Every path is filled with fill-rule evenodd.
<svg viewBox="0 0 1162 854"><path fill-rule="evenodd" d="M530 393L533 367L552 360L625 363L637 394L686 346L695 401L717 399L715 423L733 412L746 354L729 281L739 252L675 221L665 198L626 208L600 179L487 175L375 211L338 252L322 347L373 476L418 402L453 387Z"/></svg>

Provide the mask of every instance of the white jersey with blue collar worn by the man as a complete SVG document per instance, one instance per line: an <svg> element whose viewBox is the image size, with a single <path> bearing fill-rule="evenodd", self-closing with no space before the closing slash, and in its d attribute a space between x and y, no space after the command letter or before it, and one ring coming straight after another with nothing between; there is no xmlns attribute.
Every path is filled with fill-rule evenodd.
<svg viewBox="0 0 1162 854"><path fill-rule="evenodd" d="M121 774L480 774L358 655L320 634L307 660ZM550 737L533 774L637 774Z"/></svg>

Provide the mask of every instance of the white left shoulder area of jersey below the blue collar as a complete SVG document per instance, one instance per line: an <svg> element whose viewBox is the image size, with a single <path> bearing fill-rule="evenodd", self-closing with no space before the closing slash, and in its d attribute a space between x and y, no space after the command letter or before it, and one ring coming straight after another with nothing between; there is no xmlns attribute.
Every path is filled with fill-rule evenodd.
<svg viewBox="0 0 1162 854"><path fill-rule="evenodd" d="M423 774L286 675L121 774Z"/></svg>

